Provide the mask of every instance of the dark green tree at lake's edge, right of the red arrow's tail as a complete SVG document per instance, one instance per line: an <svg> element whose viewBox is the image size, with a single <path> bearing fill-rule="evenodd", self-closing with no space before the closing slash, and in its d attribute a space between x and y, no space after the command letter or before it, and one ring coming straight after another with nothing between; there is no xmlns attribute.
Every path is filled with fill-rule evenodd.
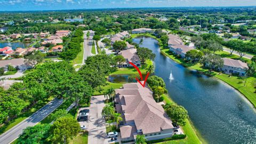
<svg viewBox="0 0 256 144"><path fill-rule="evenodd" d="M141 64L145 64L146 60L154 60L156 55L146 47L138 47L137 55L140 58Z"/></svg>

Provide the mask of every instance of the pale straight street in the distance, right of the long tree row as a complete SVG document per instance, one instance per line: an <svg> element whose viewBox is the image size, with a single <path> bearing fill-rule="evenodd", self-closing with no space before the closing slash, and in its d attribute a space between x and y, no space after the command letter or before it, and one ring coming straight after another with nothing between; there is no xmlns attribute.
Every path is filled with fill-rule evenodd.
<svg viewBox="0 0 256 144"><path fill-rule="evenodd" d="M86 34L87 31L90 32L90 37L87 39ZM85 64L85 60L87 57L91 56L91 50L92 50L92 42L93 42L93 36L94 36L94 31L92 30L85 30L84 32L84 57L83 57L83 63L82 65Z"/></svg>

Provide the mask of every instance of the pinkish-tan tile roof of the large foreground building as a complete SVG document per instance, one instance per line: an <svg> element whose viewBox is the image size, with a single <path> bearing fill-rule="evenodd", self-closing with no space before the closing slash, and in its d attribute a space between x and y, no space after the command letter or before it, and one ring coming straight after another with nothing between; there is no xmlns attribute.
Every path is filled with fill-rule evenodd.
<svg viewBox="0 0 256 144"><path fill-rule="evenodd" d="M142 130L143 134L173 129L172 121L167 117L163 107L157 105L147 86L130 83L124 84L123 88L115 92L120 99L125 121L133 120L137 130Z"/></svg>

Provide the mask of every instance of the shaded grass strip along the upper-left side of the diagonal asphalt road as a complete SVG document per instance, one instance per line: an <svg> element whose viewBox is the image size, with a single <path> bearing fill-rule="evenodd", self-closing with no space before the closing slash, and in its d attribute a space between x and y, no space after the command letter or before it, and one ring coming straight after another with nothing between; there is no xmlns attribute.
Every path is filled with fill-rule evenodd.
<svg viewBox="0 0 256 144"><path fill-rule="evenodd" d="M53 98L49 98L47 102L38 102L36 103L36 105L34 105L33 107L31 107L28 111L26 111L25 113L19 115L17 118L12 119L12 121L10 121L7 124L4 124L0 127L0 134L10 130L13 126L19 124L21 121L23 121L24 119L28 118L30 115L32 115L33 113L35 113L35 111L37 111L38 109L42 108L43 106L45 106L49 101L51 101Z"/></svg>

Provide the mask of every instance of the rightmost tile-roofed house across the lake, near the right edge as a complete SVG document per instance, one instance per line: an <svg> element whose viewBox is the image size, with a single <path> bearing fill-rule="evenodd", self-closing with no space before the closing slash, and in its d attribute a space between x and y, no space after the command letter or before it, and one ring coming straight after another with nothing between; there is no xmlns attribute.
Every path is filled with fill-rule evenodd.
<svg viewBox="0 0 256 144"><path fill-rule="evenodd" d="M240 76L245 75L245 70L248 69L247 63L241 60L234 60L228 58L222 58L224 61L223 67L219 70L224 71L226 74L238 74Z"/></svg>

